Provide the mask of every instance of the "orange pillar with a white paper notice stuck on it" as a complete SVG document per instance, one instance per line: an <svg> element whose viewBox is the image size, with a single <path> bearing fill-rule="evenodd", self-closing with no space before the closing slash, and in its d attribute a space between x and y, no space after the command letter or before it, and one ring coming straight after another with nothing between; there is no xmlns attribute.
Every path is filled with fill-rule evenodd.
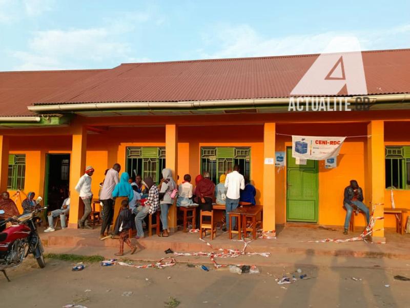
<svg viewBox="0 0 410 308"><path fill-rule="evenodd" d="M263 230L276 230L275 226L275 134L276 124L263 126Z"/></svg>

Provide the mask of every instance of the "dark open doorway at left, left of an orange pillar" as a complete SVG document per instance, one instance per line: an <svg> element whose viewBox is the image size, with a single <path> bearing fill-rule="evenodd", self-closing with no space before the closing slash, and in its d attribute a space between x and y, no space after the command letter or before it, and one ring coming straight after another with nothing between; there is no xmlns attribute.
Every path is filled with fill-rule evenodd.
<svg viewBox="0 0 410 308"><path fill-rule="evenodd" d="M47 210L58 209L68 197L70 184L70 155L47 154L44 204Z"/></svg>

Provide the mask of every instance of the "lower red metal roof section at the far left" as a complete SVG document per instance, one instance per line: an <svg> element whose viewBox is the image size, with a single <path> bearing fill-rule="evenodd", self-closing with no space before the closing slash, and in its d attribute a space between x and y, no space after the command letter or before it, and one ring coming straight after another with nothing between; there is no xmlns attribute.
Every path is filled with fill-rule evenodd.
<svg viewBox="0 0 410 308"><path fill-rule="evenodd" d="M27 106L104 71L0 72L0 117L34 115Z"/></svg>

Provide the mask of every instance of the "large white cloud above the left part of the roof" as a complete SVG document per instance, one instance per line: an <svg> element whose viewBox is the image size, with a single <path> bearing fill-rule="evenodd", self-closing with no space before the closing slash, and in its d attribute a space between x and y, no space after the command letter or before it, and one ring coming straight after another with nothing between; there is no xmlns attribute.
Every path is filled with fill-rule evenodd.
<svg viewBox="0 0 410 308"><path fill-rule="evenodd" d="M27 50L11 54L20 62L14 69L83 69L106 67L107 63L148 62L148 58L135 57L130 43L122 37L150 20L149 13L127 12L107 21L104 27L33 32Z"/></svg>

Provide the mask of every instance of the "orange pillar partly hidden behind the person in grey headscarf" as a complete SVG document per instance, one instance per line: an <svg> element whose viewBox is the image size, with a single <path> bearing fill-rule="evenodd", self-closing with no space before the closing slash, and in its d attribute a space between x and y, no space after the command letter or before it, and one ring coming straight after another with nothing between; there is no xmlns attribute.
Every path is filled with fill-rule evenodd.
<svg viewBox="0 0 410 308"><path fill-rule="evenodd" d="M165 151L165 165L172 170L176 183L178 175L178 127L175 124L165 125ZM175 232L177 229L175 202L168 212L168 226L171 232Z"/></svg>

